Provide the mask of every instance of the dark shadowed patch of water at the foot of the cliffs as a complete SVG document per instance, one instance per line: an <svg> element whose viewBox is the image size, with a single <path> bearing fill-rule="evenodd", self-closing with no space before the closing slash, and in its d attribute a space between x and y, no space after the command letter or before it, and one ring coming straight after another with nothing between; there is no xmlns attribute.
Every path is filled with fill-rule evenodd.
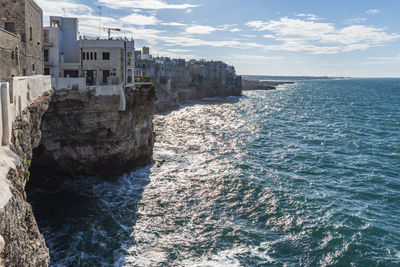
<svg viewBox="0 0 400 267"><path fill-rule="evenodd" d="M50 249L51 264L123 265L126 249L135 243L138 203L150 183L151 167L114 181L70 179L33 169L28 201Z"/></svg>

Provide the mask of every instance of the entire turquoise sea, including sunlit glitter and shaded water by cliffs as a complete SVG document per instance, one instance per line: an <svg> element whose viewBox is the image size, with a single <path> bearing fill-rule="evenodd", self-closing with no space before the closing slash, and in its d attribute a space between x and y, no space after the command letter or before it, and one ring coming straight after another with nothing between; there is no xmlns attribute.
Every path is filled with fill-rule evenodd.
<svg viewBox="0 0 400 267"><path fill-rule="evenodd" d="M206 99L155 132L153 166L31 189L53 266L400 265L399 79Z"/></svg>

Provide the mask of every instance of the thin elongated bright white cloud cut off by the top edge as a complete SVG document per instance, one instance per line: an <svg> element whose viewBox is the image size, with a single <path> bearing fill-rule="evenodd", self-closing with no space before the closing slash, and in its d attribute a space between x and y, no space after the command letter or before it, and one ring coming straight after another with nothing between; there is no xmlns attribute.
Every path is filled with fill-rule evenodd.
<svg viewBox="0 0 400 267"><path fill-rule="evenodd" d="M199 6L192 4L168 4L163 0L99 0L99 3L113 9L189 9Z"/></svg>

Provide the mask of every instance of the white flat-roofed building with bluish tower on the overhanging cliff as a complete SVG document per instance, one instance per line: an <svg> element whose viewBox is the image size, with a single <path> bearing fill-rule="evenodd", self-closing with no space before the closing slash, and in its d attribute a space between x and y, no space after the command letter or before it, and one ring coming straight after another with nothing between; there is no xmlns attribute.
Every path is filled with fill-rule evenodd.
<svg viewBox="0 0 400 267"><path fill-rule="evenodd" d="M77 18L50 17L44 45L45 73L53 78L83 77L88 86L134 85L133 40L82 38Z"/></svg>

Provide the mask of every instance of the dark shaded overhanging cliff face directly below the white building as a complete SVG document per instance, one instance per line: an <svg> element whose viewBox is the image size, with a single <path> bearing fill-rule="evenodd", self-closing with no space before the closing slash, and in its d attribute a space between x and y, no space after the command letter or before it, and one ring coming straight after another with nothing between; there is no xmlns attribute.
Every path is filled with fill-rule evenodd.
<svg viewBox="0 0 400 267"><path fill-rule="evenodd" d="M68 176L116 177L151 163L154 99L128 90L119 96L56 91L42 120L42 140L32 164Z"/></svg>

